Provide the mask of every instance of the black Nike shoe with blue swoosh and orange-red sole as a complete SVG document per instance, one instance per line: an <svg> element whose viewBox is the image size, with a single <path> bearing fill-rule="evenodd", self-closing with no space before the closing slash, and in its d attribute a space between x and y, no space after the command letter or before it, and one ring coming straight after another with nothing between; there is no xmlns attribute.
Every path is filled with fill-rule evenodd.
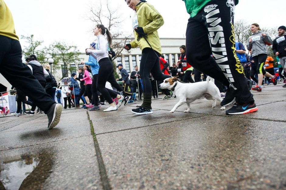
<svg viewBox="0 0 286 190"><path fill-rule="evenodd" d="M238 115L238 114L246 114L251 112L256 112L258 108L256 107L255 103L252 104L238 104L235 103L235 105L232 106L232 108L226 110L226 115Z"/></svg>

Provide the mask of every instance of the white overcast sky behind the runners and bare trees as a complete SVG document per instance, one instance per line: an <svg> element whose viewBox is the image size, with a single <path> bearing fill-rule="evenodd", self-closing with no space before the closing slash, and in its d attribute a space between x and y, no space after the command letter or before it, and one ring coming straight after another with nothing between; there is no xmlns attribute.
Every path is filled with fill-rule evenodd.
<svg viewBox="0 0 286 190"><path fill-rule="evenodd" d="M12 12L16 34L34 35L43 40L44 46L54 41L76 45L81 52L95 40L91 29L95 24L86 19L90 15L90 4L99 0L4 0ZM105 2L106 0L101 0ZM119 7L118 15L125 19L120 29L126 35L132 33L130 15L133 14L124 0L109 0L110 6ZM159 29L161 38L183 38L189 15L182 0L148 0L162 14L165 24ZM284 0L239 0L235 7L235 20L258 23L262 28L271 28L285 23ZM116 30L116 29L114 29ZM111 33L113 31L110 31ZM23 46L27 45L20 39Z"/></svg>

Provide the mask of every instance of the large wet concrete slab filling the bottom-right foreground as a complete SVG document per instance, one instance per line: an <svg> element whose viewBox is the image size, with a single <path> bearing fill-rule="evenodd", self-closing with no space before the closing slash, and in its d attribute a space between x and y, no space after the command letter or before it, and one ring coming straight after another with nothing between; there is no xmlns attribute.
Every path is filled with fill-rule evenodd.
<svg viewBox="0 0 286 190"><path fill-rule="evenodd" d="M114 189L283 189L285 132L285 122L210 115L97 141Z"/></svg>

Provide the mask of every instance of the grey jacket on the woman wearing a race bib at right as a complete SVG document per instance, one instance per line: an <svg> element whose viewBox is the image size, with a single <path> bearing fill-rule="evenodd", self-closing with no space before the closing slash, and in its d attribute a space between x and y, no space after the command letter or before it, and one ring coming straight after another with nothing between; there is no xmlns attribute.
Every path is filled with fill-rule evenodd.
<svg viewBox="0 0 286 190"><path fill-rule="evenodd" d="M252 57L259 54L267 54L266 45L272 45L273 41L266 34L266 36L262 36L262 34L266 34L265 32L256 32L253 33L247 40L246 47L248 50L251 50ZM249 40L252 39L252 42L249 43Z"/></svg>

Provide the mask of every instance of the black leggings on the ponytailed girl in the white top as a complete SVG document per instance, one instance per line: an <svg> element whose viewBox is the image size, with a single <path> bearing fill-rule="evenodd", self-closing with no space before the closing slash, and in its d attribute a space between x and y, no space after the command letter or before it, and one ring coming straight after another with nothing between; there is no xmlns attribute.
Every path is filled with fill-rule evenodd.
<svg viewBox="0 0 286 190"><path fill-rule="evenodd" d="M122 87L116 82L114 78L114 70L113 64L109 58L102 58L99 60L99 70L98 70L98 77L96 87L98 88L99 92L103 95L106 101L111 104L113 103L112 98L117 97L117 93L113 90L105 88L106 81L110 82L110 84L118 90L118 92L123 91Z"/></svg>

